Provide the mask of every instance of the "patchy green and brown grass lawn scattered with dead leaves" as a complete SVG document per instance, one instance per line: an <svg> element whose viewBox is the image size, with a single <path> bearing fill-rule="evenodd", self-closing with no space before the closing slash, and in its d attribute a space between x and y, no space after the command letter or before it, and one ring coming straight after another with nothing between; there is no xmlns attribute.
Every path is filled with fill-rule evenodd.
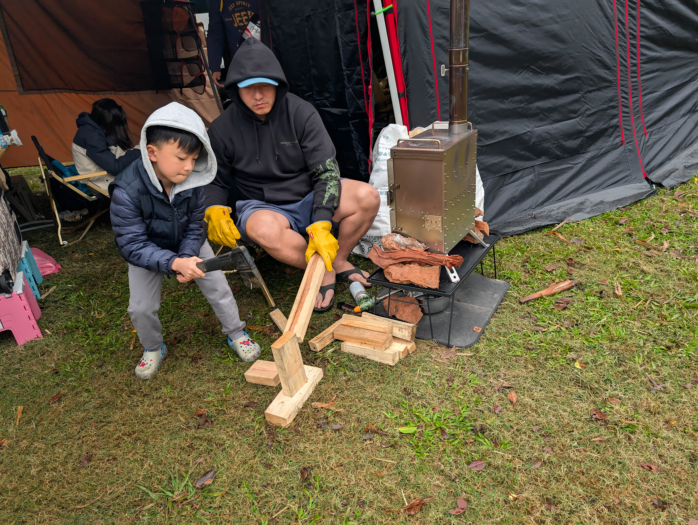
<svg viewBox="0 0 698 525"><path fill-rule="evenodd" d="M36 173L24 173L39 191ZM552 227L500 241L498 275L511 288L464 355L441 359L445 347L418 340L415 353L389 367L338 344L319 354L303 344L306 364L324 367L325 377L286 429L264 418L279 389L244 381L249 365L228 349L198 287L163 287L170 353L141 381L127 265L109 225L68 248L51 230L29 232L29 243L63 269L40 285L42 293L56 287L40 301L45 337L17 347L0 333L0 522L698 519L698 178L678 189L679 199L660 190L556 230L581 244L545 235ZM258 264L288 315L302 273L268 255ZM577 286L519 303L567 277ZM271 360L279 333L262 294L242 288L235 297L249 325L267 327L251 335ZM338 298L350 301L345 285ZM559 298L572 302L558 310ZM309 337L336 313L313 315ZM310 406L334 396L336 411ZM195 429L198 409L210 427ZM470 469L475 460L484 469ZM214 482L194 491L209 469ZM422 496L433 500L417 514L400 510ZM467 509L449 514L457 499Z"/></svg>

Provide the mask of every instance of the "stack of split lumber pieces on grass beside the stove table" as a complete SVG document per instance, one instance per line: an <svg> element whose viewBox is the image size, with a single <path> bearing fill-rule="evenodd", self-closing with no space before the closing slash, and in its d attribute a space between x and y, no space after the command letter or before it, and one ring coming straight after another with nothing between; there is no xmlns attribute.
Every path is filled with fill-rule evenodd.
<svg viewBox="0 0 698 525"><path fill-rule="evenodd" d="M394 365L417 348L417 326L364 312L361 317L344 314L339 321L309 341L312 351L320 351L334 340L341 350L378 363Z"/></svg>

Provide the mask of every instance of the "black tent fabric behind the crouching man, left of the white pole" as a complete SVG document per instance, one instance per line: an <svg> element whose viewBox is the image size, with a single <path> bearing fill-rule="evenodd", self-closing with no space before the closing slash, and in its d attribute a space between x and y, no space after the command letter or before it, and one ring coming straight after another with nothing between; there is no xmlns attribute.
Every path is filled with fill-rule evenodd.
<svg viewBox="0 0 698 525"><path fill-rule="evenodd" d="M262 42L279 59L290 93L318 110L342 176L368 181L373 97L366 2L265 0L260 21Z"/></svg>

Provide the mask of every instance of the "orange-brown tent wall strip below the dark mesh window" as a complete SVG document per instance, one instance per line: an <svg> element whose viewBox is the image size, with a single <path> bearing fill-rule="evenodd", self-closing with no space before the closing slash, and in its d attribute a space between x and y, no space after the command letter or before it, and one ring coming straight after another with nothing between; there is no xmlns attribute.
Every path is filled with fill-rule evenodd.
<svg viewBox="0 0 698 525"><path fill-rule="evenodd" d="M114 31L119 30L116 24L128 22L128 19L115 18ZM203 29L199 24L202 38ZM205 40L204 40L205 44ZM2 158L3 167L37 165L37 153L29 137L36 135L47 153L61 162L73 160L70 144L73 142L75 119L80 112L89 112L92 102L108 96L116 100L128 116L128 127L133 137L140 136L140 128L149 114L168 105L170 102L180 102L197 112L208 126L216 116L218 107L213 91L207 89L199 95L191 89L172 89L168 91L138 91L134 93L41 93L25 94L17 92L10 58L3 41L0 40L0 104L8 114L10 128L16 128L24 146L10 146Z"/></svg>

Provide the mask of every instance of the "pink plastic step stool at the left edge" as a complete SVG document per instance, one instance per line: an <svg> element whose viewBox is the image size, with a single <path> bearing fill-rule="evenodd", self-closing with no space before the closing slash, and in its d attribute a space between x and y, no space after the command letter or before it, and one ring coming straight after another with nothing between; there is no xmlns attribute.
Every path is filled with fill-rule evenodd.
<svg viewBox="0 0 698 525"><path fill-rule="evenodd" d="M29 293L25 293L27 287ZM36 319L41 317L41 310L24 273L17 272L15 287L9 296L0 293L0 330L10 330L17 344L42 338Z"/></svg>

